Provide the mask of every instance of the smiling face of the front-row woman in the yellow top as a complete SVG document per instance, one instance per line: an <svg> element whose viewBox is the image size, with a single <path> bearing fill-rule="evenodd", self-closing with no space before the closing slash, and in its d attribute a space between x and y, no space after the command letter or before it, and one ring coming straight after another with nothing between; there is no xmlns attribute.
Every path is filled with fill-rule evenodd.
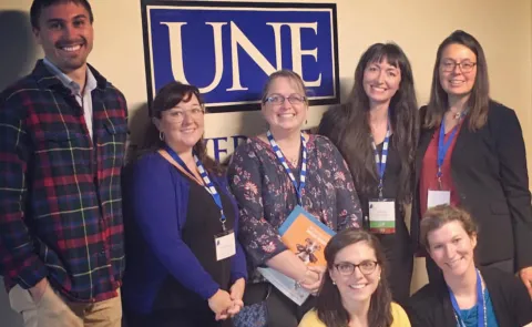
<svg viewBox="0 0 532 327"><path fill-rule="evenodd" d="M336 255L335 265L329 269L329 275L336 283L344 303L366 302L371 298L379 286L381 268L377 264L371 273L362 274L362 270L368 270L370 262L377 262L375 249L364 241L346 246ZM356 267L352 274L348 274L349 266L359 264L365 266L362 270L360 270L361 267Z"/></svg>

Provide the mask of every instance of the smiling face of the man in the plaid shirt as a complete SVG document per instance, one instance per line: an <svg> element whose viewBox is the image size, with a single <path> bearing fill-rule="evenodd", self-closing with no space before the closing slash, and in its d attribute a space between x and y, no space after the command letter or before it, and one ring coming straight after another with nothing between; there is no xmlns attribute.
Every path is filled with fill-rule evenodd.
<svg viewBox="0 0 532 327"><path fill-rule="evenodd" d="M43 8L33 33L48 60L62 72L68 74L85 65L93 28L83 6L64 2Z"/></svg>

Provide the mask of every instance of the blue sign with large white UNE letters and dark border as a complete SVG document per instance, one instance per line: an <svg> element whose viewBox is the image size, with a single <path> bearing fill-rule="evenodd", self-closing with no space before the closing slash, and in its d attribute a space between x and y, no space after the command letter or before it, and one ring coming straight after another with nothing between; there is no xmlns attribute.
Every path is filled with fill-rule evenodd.
<svg viewBox="0 0 532 327"><path fill-rule="evenodd" d="M267 76L289 69L311 105L339 102L334 3L143 0L142 10L150 101L176 80L198 86L212 112L254 110Z"/></svg>

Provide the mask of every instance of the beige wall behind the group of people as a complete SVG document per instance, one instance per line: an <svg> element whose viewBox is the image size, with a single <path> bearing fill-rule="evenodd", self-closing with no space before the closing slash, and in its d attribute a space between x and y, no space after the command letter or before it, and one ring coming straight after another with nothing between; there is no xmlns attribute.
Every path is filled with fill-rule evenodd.
<svg viewBox="0 0 532 327"><path fill-rule="evenodd" d="M249 0L246 0L249 1ZM294 0L294 2L298 2ZM318 2L318 1L315 1ZM436 49L456 29L474 34L488 57L492 96L515 109L532 157L532 4L525 0L338 0L339 63L345 99L358 58L374 42L395 41L413 67L420 104L430 88ZM30 0L0 3L0 89L29 72L41 55L29 39ZM377 3L379 6L377 6ZM139 0L92 0L95 44L90 57L103 74L125 94L132 114L145 106L146 86ZM7 49L7 50L6 50ZM8 57L3 59L4 57ZM316 125L326 108L314 108L308 120ZM222 122L222 123L221 123ZM223 123L225 122L225 123ZM207 137L256 133L264 126L257 112L207 116ZM134 123L133 132L137 130ZM136 142L133 136L133 142ZM232 149L229 149L229 152ZM529 165L529 166L532 166ZM418 266L420 268L420 266ZM422 269L421 269L422 270ZM416 277L416 285L422 283ZM3 295L4 296L4 295ZM3 302L3 303L2 303ZM7 304L0 295L0 316ZM3 318L2 318L3 320ZM17 326L8 323L2 326Z"/></svg>

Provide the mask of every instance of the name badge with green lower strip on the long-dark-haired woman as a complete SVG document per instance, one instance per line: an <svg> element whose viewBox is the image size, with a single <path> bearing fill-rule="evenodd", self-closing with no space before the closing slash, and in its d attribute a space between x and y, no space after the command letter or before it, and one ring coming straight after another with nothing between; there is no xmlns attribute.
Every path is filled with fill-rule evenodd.
<svg viewBox="0 0 532 327"><path fill-rule="evenodd" d="M369 200L369 231L377 234L396 233L396 202L392 198Z"/></svg>

